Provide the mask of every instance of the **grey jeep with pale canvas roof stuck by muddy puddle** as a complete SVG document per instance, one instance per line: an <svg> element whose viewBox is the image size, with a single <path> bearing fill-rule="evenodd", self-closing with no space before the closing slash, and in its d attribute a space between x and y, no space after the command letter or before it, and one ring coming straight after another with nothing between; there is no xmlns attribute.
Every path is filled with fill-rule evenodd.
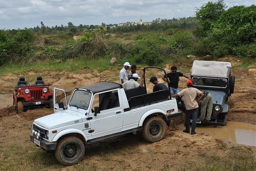
<svg viewBox="0 0 256 171"><path fill-rule="evenodd" d="M194 61L190 70L193 87L208 91L212 95L212 115L210 122L199 124L227 125L228 100L234 92L235 76L231 75L231 63L220 61ZM207 112L207 111L206 111ZM205 114L205 116L207 113ZM200 116L200 108L198 116ZM191 121L191 120L190 120Z"/></svg>

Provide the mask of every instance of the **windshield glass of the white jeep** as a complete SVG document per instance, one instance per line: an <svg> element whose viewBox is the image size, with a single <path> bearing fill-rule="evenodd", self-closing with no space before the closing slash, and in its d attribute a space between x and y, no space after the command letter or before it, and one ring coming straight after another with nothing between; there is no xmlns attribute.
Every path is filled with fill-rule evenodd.
<svg viewBox="0 0 256 171"><path fill-rule="evenodd" d="M69 101L69 106L74 106L76 109L87 110L92 93L84 90L76 89Z"/></svg>

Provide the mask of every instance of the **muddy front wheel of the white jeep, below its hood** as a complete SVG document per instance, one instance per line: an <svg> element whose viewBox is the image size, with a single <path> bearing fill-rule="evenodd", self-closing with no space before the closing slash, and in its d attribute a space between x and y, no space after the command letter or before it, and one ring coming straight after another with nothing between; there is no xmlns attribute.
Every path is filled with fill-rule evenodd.
<svg viewBox="0 0 256 171"><path fill-rule="evenodd" d="M84 143L77 137L65 137L61 139L55 149L55 157L60 164L73 165L84 157Z"/></svg>

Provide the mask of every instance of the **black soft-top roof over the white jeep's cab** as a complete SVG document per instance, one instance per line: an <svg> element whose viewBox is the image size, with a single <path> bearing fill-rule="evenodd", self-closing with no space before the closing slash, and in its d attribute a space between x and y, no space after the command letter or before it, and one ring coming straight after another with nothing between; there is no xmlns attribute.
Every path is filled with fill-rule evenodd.
<svg viewBox="0 0 256 171"><path fill-rule="evenodd" d="M89 86L81 87L82 89L87 89L92 91L93 93L99 93L102 91L112 90L112 89L121 89L123 88L122 84L118 84L116 82L99 82L96 84L92 84Z"/></svg>

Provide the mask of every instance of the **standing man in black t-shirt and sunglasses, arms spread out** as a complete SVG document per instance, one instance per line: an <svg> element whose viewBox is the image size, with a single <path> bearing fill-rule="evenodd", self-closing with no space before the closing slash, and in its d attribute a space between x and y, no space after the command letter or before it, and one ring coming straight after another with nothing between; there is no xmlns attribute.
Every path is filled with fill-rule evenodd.
<svg viewBox="0 0 256 171"><path fill-rule="evenodd" d="M170 80L170 90L171 95L177 94L180 92L178 85L179 85L179 77L185 77L192 81L191 78L189 78L188 75L182 74L181 72L177 72L177 67L172 66L171 68L172 72L167 74L168 79ZM167 79L165 78L165 75L162 77L162 79L167 82Z"/></svg>

